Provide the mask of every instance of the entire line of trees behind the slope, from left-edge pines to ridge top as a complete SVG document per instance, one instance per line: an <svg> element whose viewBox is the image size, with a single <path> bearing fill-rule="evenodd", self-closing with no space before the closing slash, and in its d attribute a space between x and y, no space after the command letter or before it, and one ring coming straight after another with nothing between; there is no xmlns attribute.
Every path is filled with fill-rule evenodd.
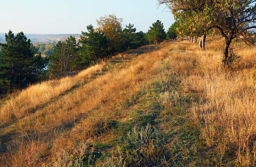
<svg viewBox="0 0 256 167"><path fill-rule="evenodd" d="M175 27L166 33L157 20L147 33L136 32L134 25L122 28L122 19L114 14L97 20L98 28L87 26L81 39L70 36L65 41L47 41L32 45L23 32L16 36L9 31L6 44L0 44L0 94L21 90L32 83L66 73L85 69L104 62L118 53L142 45L158 45L165 39L175 39ZM43 58L41 55L48 55Z"/></svg>

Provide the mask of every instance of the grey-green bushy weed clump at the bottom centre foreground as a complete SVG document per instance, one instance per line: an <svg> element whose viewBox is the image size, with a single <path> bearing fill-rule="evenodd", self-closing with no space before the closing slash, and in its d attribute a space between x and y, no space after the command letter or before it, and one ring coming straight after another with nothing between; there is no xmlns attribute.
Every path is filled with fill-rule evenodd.
<svg viewBox="0 0 256 167"><path fill-rule="evenodd" d="M134 127L125 140L127 147L120 148L121 166L145 167L166 164L171 154L174 141L168 139L162 132L148 123L145 128Z"/></svg>

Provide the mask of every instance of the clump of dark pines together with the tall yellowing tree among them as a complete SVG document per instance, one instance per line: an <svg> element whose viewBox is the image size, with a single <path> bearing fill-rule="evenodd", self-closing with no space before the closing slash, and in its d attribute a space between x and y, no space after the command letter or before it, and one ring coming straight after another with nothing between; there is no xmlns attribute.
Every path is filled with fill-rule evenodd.
<svg viewBox="0 0 256 167"><path fill-rule="evenodd" d="M92 25L87 26L88 32L82 32L80 39L81 58L96 64L119 52L148 44L145 33L136 32L132 24L122 30L121 21L115 15L109 15L97 20L99 28L96 30Z"/></svg>

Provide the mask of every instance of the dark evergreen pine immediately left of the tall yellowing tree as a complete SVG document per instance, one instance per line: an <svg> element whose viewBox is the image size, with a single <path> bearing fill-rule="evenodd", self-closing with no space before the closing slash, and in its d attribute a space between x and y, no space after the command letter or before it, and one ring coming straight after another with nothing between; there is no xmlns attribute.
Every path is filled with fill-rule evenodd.
<svg viewBox="0 0 256 167"><path fill-rule="evenodd" d="M82 32L80 43L81 53L85 59L91 60L94 64L101 59L104 62L108 54L108 40L104 33L95 31L92 25L87 26L88 32Z"/></svg>

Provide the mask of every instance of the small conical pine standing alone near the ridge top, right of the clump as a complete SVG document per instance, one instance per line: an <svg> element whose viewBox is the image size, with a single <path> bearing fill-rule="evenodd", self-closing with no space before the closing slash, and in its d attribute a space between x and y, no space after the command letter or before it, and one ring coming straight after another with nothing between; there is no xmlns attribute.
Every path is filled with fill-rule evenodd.
<svg viewBox="0 0 256 167"><path fill-rule="evenodd" d="M166 33L163 28L163 23L160 20L157 20L152 24L152 27L149 27L147 37L151 42L155 42L155 45L160 44L163 40L166 39Z"/></svg>

